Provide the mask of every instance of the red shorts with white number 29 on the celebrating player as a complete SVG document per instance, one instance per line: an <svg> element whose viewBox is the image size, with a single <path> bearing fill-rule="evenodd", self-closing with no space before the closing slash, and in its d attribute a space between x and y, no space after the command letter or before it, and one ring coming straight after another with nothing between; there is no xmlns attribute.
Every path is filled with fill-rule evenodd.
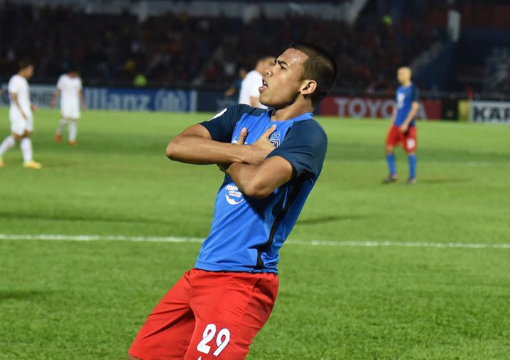
<svg viewBox="0 0 510 360"><path fill-rule="evenodd" d="M194 268L156 305L129 354L143 360L244 359L276 293L273 273Z"/></svg>

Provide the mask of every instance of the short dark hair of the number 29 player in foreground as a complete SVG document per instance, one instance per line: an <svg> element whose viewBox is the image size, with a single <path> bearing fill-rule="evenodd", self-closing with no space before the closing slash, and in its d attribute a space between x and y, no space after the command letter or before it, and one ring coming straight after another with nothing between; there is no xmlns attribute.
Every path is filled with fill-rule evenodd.
<svg viewBox="0 0 510 360"><path fill-rule="evenodd" d="M312 104L317 105L322 99L327 97L335 85L337 78L337 64L330 53L323 48L310 43L291 43L289 49L299 50L308 55L308 59L303 64L303 80L311 79L317 82L317 90L310 96Z"/></svg>

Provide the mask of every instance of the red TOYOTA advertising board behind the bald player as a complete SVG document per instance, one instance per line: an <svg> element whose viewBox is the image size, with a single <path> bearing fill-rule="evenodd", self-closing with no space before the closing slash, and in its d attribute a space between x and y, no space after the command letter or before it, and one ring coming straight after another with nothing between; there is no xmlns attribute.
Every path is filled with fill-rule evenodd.
<svg viewBox="0 0 510 360"><path fill-rule="evenodd" d="M394 99L376 97L326 97L320 103L320 114L342 117L389 118L393 111ZM440 100L422 100L418 119L436 120L441 118Z"/></svg>

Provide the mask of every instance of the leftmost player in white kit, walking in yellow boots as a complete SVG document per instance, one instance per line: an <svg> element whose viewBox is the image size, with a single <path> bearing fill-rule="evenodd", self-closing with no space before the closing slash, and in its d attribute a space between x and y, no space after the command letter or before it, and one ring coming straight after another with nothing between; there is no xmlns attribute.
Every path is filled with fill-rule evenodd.
<svg viewBox="0 0 510 360"><path fill-rule="evenodd" d="M33 75L33 63L21 61L18 64L18 73L13 75L7 85L9 92L9 120L11 121L11 135L0 144L0 167L4 166L2 156L17 142L20 143L23 153L23 167L38 170L41 168L32 158L33 114L37 107L30 102L30 89L28 79Z"/></svg>

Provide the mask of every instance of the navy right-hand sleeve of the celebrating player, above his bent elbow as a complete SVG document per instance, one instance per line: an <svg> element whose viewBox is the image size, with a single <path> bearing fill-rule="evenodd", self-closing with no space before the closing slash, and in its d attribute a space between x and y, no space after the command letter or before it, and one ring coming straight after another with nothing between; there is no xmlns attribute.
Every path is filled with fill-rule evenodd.
<svg viewBox="0 0 510 360"><path fill-rule="evenodd" d="M278 148L267 158L281 156L293 166L297 176L304 172L319 175L326 156L327 136L316 121L298 121L289 129Z"/></svg>

